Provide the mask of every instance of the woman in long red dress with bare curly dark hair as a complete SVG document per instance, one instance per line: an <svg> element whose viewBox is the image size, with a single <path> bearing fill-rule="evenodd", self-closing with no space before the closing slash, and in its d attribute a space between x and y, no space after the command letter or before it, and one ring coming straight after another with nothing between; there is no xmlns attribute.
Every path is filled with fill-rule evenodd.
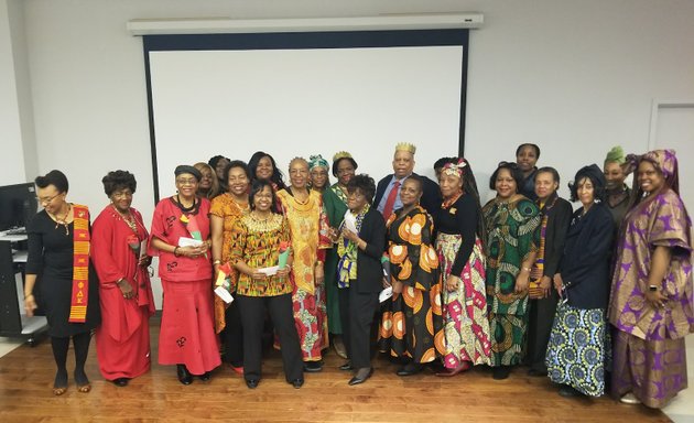
<svg viewBox="0 0 694 423"><path fill-rule="evenodd" d="M148 231L132 208L137 182L130 172L109 172L101 180L111 199L91 226L91 261L99 275L101 326L96 330L99 370L118 387L150 369L150 316L154 313L141 246Z"/></svg>

